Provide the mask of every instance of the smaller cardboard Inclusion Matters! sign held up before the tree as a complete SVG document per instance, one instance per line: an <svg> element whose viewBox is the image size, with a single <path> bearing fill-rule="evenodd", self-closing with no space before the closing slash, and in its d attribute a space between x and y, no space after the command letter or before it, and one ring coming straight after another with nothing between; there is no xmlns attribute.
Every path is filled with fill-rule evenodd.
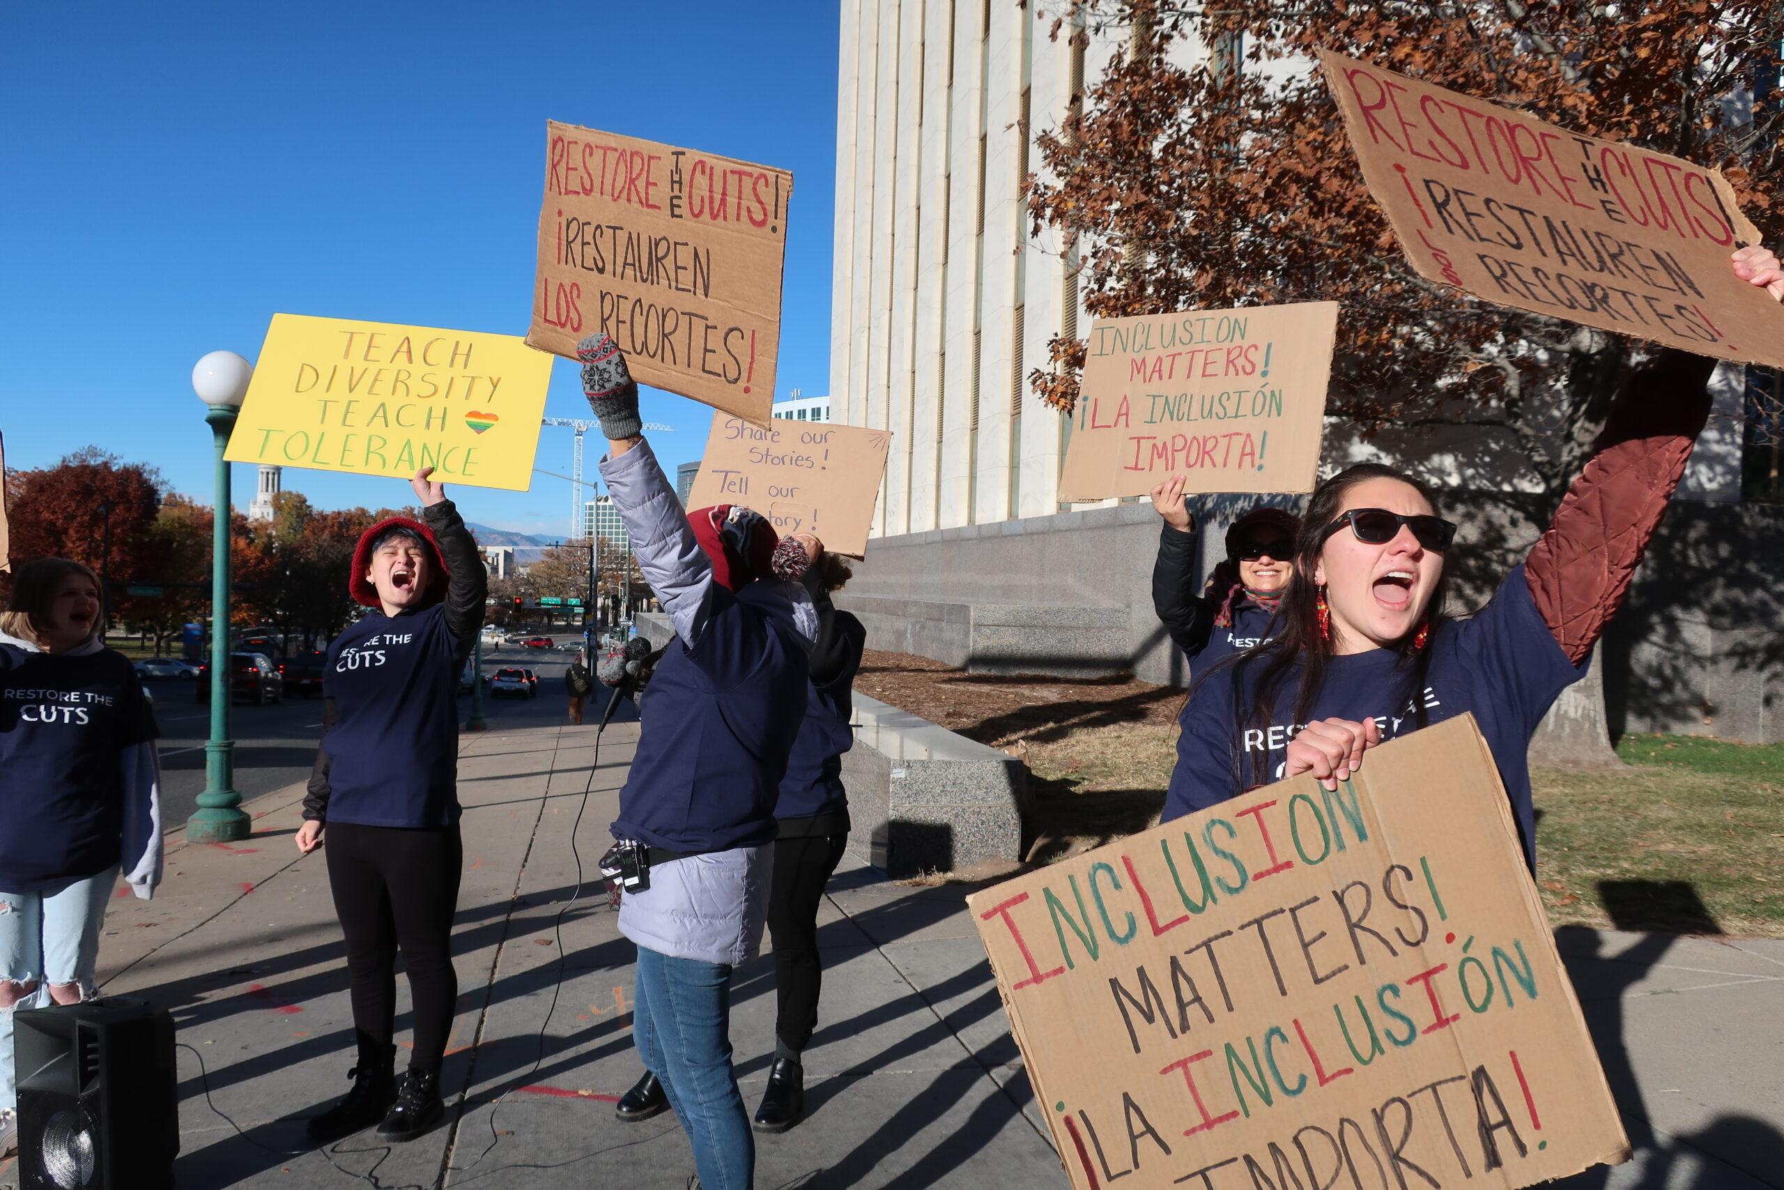
<svg viewBox="0 0 1784 1190"><path fill-rule="evenodd" d="M1336 302L1094 323L1060 500L1313 491L1336 330Z"/></svg>

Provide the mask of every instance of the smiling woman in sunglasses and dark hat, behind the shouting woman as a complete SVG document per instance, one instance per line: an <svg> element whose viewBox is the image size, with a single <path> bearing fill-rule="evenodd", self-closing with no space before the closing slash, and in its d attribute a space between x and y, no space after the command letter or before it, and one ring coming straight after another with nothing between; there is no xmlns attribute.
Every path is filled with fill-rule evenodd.
<svg viewBox="0 0 1784 1190"><path fill-rule="evenodd" d="M1163 519L1152 562L1152 612L1190 658L1190 673L1270 639L1270 621L1288 587L1301 517L1284 508L1252 508L1226 535L1226 560L1195 594L1195 517L1183 500L1185 476L1152 489Z"/></svg>

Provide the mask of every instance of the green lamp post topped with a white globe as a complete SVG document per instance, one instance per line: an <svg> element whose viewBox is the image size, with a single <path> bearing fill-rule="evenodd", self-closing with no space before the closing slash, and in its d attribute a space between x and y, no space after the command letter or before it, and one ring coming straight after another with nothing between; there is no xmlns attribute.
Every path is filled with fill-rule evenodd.
<svg viewBox="0 0 1784 1190"><path fill-rule="evenodd" d="M211 351L193 368L193 391L209 409L205 421L216 446L216 507L211 533L211 742L205 744L205 792L198 810L186 819L186 837L193 842L235 842L246 839L253 819L241 808L235 792L235 740L228 737L230 639L228 639L228 462L223 450L241 398L248 393L253 364L234 351Z"/></svg>

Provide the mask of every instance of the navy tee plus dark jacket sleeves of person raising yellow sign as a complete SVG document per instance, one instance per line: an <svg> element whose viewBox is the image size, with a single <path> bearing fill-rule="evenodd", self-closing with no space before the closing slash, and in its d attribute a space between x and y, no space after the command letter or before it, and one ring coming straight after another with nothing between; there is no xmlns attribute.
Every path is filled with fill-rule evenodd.
<svg viewBox="0 0 1784 1190"><path fill-rule="evenodd" d="M446 596L368 612L328 646L323 739L305 819L442 828L458 821L458 676L476 644L489 571L450 500L423 510Z"/></svg>

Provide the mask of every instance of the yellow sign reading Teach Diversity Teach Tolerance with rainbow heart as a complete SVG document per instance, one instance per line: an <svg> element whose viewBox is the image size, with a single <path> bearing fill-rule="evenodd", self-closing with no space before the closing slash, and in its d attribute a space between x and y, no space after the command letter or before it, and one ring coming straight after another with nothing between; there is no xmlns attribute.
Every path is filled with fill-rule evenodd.
<svg viewBox="0 0 1784 1190"><path fill-rule="evenodd" d="M526 491L549 382L516 335L275 314L225 459Z"/></svg>

